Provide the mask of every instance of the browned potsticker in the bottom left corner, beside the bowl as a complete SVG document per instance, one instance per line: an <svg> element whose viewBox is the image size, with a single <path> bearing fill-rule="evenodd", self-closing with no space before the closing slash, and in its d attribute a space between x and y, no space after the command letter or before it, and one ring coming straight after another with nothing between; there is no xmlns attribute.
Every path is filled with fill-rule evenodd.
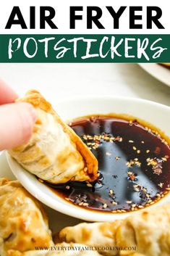
<svg viewBox="0 0 170 256"><path fill-rule="evenodd" d="M53 245L43 208L18 181L0 179L0 255Z"/></svg>

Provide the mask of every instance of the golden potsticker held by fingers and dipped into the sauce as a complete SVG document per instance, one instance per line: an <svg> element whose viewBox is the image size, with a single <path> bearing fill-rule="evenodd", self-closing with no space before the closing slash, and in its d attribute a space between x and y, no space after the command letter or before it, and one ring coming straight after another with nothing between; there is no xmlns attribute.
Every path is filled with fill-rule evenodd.
<svg viewBox="0 0 170 256"><path fill-rule="evenodd" d="M9 154L23 168L49 183L95 181L98 161L51 104L38 91L28 91L19 101L32 104L38 119L30 141L9 150Z"/></svg>

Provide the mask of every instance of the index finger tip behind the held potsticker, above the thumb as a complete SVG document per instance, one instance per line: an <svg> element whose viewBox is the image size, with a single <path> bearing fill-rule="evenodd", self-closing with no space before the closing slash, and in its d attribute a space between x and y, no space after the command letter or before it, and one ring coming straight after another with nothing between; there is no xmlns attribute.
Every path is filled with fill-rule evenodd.
<svg viewBox="0 0 170 256"><path fill-rule="evenodd" d="M12 103L17 99L17 94L7 86L7 84L0 80L0 104Z"/></svg>

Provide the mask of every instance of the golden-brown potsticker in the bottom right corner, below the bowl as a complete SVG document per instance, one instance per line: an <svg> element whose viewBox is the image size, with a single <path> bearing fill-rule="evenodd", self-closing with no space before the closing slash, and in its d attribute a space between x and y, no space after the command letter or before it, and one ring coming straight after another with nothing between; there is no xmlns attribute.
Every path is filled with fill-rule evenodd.
<svg viewBox="0 0 170 256"><path fill-rule="evenodd" d="M125 219L116 232L119 246L137 247L147 256L170 255L170 204Z"/></svg>

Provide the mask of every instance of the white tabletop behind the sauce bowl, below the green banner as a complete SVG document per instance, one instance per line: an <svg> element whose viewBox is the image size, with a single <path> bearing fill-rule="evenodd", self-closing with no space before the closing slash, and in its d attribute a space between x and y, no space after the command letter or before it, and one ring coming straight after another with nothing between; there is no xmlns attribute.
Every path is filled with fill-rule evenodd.
<svg viewBox="0 0 170 256"><path fill-rule="evenodd" d="M170 87L137 64L0 64L0 78L20 96L36 88L54 104L71 96L109 94L150 99L170 106Z"/></svg>

